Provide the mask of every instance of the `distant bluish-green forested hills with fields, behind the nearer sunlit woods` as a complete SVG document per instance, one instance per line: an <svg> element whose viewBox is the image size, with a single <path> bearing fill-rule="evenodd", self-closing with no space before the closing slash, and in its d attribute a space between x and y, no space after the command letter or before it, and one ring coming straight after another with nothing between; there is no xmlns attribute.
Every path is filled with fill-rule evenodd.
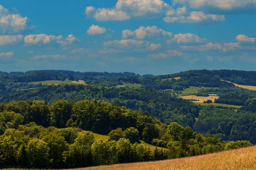
<svg viewBox="0 0 256 170"><path fill-rule="evenodd" d="M255 80L255 71L232 70L162 76L55 70L0 72L0 102L96 99L148 113L162 123L177 122L204 135L216 134L221 141L249 140L256 144L256 91L231 83L253 85Z"/></svg>

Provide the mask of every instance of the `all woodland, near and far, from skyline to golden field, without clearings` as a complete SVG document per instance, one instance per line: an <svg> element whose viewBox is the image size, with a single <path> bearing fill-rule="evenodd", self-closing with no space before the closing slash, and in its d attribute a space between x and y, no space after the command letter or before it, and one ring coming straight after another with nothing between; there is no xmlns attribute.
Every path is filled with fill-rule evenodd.
<svg viewBox="0 0 256 170"><path fill-rule="evenodd" d="M47 80L85 84L33 83ZM256 85L256 72L193 70L160 76L0 72L0 164L86 167L195 156L256 144L256 91L232 82ZM183 93L191 87L198 90ZM215 104L241 108L197 105L196 100L180 98L209 94L219 96ZM110 140L96 140L93 133L109 135ZM158 148L149 150L140 145L141 140ZM44 154L35 158L33 153Z"/></svg>

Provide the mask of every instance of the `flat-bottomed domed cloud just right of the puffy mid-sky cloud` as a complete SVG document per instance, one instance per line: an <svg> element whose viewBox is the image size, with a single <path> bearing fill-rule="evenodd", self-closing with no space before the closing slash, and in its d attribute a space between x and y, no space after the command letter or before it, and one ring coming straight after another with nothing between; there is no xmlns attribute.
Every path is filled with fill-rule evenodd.
<svg viewBox="0 0 256 170"><path fill-rule="evenodd" d="M177 44L185 43L206 43L208 40L206 38L200 38L198 35L186 33L186 34L176 34L174 38L166 40L167 44L175 42Z"/></svg>

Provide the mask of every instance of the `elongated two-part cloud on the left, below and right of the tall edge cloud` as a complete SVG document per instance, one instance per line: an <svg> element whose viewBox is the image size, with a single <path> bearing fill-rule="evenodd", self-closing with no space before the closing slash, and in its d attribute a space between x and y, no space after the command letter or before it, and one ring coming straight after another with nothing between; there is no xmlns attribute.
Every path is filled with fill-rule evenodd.
<svg viewBox="0 0 256 170"><path fill-rule="evenodd" d="M73 34L70 34L68 37L64 39L62 35L47 35L47 34L30 34L24 37L24 41L26 45L32 44L49 44L50 42L57 42L61 46L71 45L75 42L79 42Z"/></svg>

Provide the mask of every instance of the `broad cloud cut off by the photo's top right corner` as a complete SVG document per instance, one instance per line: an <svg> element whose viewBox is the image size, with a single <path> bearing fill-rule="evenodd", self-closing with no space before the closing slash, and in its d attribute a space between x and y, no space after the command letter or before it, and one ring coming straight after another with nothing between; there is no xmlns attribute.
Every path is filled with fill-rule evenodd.
<svg viewBox="0 0 256 170"><path fill-rule="evenodd" d="M173 5L184 5L207 13L255 12L256 0L173 0Z"/></svg>

